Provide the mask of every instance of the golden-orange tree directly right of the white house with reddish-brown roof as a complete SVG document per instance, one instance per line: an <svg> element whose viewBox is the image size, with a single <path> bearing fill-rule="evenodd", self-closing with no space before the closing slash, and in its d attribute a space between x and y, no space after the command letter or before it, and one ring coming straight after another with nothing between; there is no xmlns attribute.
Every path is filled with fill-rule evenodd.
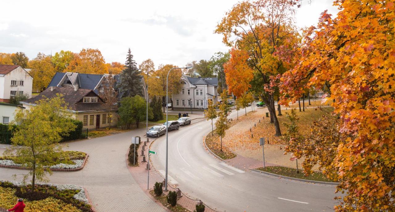
<svg viewBox="0 0 395 212"><path fill-rule="evenodd" d="M51 62L51 56L45 55L41 52L37 57L29 61L30 75L34 78L33 88L42 92L47 88L55 75L55 68Z"/></svg>

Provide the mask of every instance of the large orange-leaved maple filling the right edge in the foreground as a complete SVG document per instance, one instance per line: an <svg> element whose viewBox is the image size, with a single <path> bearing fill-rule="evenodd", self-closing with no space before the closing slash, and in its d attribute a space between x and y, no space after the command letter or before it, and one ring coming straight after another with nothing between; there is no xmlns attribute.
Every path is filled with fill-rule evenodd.
<svg viewBox="0 0 395 212"><path fill-rule="evenodd" d="M324 11L318 26L308 29L298 49L301 61L282 75L281 91L287 104L304 89L329 88L324 102L331 102L337 122L327 139L309 140L310 148L296 143L290 151L305 156L304 167L319 154L331 159L318 167L338 178L337 191L346 193L336 211L394 211L394 3L334 4L342 10L335 18Z"/></svg>

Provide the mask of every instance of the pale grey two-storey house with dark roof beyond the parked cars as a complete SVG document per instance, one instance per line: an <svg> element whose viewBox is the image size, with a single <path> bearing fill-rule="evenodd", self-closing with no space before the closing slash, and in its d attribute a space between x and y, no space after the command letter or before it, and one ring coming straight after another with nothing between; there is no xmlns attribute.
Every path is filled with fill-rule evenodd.
<svg viewBox="0 0 395 212"><path fill-rule="evenodd" d="M174 108L207 108L207 100L217 103L218 78L181 76L181 91L172 95Z"/></svg>

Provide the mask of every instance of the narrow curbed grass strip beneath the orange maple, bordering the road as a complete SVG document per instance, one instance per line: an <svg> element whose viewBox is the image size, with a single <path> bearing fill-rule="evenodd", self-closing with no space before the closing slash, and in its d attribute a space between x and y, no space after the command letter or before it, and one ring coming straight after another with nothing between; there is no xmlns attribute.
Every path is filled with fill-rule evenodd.
<svg viewBox="0 0 395 212"><path fill-rule="evenodd" d="M295 168L287 168L287 167L280 167L280 166L273 166L273 167L266 167L266 168L256 168L256 170L260 171L265 171L265 172L270 172L273 174L279 174L282 176L287 176L287 177L292 177L292 178L298 178L298 179L304 179L304 180L315 180L315 181L323 181L323 182L333 182L329 180L328 178L325 177L324 174L321 172L313 172L309 176L305 176L302 170L299 170L299 173L297 173L297 170Z"/></svg>

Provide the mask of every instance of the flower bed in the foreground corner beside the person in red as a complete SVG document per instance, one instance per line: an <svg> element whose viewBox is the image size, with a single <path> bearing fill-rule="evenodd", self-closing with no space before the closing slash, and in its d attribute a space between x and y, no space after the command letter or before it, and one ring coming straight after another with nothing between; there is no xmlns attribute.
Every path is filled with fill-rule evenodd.
<svg viewBox="0 0 395 212"><path fill-rule="evenodd" d="M12 208L16 199L24 198L25 212L93 212L80 186L36 184L34 193L30 186L0 180L0 208Z"/></svg>

